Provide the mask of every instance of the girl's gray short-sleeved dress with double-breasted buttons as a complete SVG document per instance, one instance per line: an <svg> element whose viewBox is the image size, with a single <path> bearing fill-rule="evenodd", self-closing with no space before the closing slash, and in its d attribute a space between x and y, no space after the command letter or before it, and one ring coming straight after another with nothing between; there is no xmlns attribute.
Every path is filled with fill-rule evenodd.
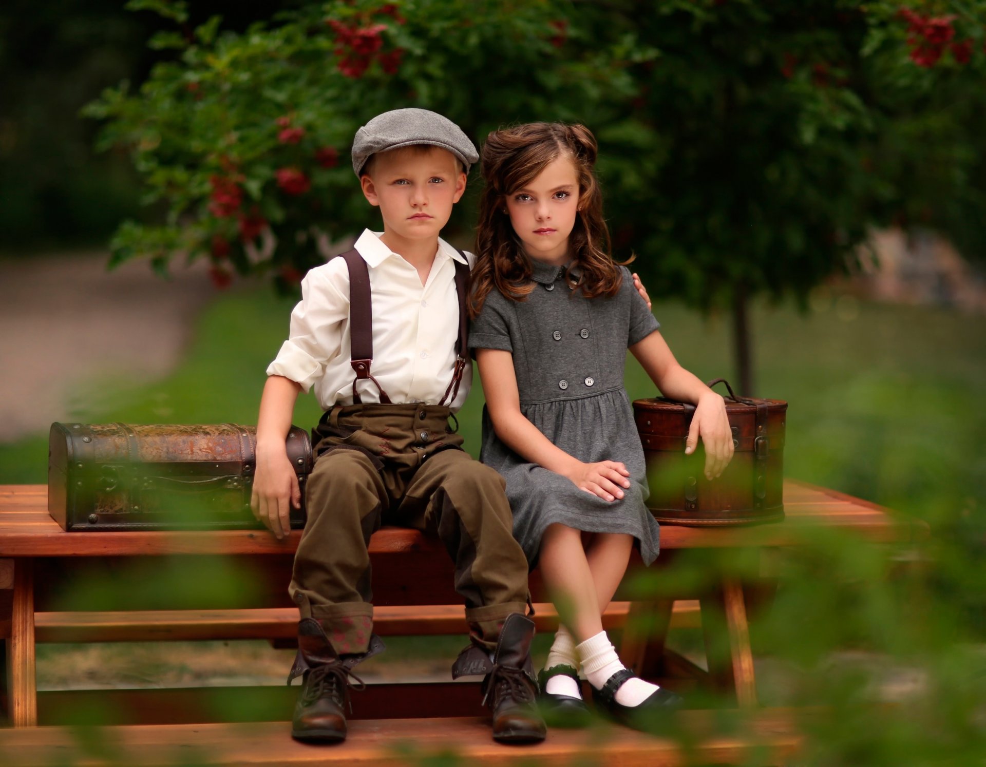
<svg viewBox="0 0 986 767"><path fill-rule="evenodd" d="M469 348L512 352L521 412L579 460L624 463L630 488L621 500L606 502L528 462L496 436L485 408L479 458L507 482L514 537L531 568L551 523L629 533L651 564L658 556L659 527L644 505L649 495L644 452L623 388L623 367L627 347L660 325L625 267L620 267L622 287L611 299L587 299L581 290L571 290L563 267L537 261L533 267L537 284L526 301L506 299L495 288L490 292L469 329Z"/></svg>

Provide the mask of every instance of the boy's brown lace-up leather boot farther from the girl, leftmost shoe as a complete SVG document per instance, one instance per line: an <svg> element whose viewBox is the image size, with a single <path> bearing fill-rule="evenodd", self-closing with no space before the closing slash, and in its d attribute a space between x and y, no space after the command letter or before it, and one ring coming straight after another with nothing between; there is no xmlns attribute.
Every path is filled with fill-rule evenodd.
<svg viewBox="0 0 986 767"><path fill-rule="evenodd" d="M370 649L359 655L336 654L321 624L303 618L298 624L298 655L288 675L288 684L302 676L301 694L291 720L291 736L306 742L331 743L346 739L346 712L352 713L350 688L366 685L352 669L357 663L384 649L374 634Z"/></svg>

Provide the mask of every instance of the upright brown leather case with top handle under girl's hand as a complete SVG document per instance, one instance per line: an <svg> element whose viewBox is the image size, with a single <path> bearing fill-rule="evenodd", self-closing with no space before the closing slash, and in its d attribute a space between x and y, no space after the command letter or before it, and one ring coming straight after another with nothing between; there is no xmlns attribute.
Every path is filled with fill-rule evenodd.
<svg viewBox="0 0 986 767"><path fill-rule="evenodd" d="M710 383L722 382L722 379ZM725 383L725 382L723 382ZM705 478L702 441L684 454L694 405L664 397L633 403L647 459L647 505L662 523L730 525L784 519L784 434L788 403L738 397L729 383L726 411L735 453L717 479Z"/></svg>

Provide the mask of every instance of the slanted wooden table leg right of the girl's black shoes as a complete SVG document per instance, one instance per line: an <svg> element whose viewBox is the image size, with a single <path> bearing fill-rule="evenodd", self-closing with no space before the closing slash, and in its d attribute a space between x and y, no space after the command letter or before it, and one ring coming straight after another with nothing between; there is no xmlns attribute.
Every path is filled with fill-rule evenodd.
<svg viewBox="0 0 986 767"><path fill-rule="evenodd" d="M756 680L742 586L734 579L724 578L716 593L701 602L709 673L721 688L735 691L740 708L755 707Z"/></svg>

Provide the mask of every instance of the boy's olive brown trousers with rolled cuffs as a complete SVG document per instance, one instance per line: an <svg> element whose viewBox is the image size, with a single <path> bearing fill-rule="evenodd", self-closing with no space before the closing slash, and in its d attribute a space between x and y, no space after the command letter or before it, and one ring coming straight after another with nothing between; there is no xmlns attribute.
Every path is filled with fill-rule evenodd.
<svg viewBox="0 0 986 767"><path fill-rule="evenodd" d="M437 535L456 563L472 640L496 647L528 602L528 561L514 539L504 481L473 460L442 405L337 405L314 432L308 521L290 593L335 651L365 653L373 631L368 545L382 524ZM413 574L408 574L413 577Z"/></svg>

